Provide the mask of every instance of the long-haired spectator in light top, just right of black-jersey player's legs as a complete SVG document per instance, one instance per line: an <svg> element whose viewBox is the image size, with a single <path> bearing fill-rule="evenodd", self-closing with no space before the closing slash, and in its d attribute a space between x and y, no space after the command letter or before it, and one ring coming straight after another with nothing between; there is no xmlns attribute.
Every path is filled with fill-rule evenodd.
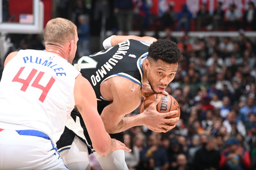
<svg viewBox="0 0 256 170"><path fill-rule="evenodd" d="M124 133L124 144L132 149L132 152L124 152L125 162L129 170L135 170L140 160L140 151L137 146L133 145L132 137L129 133Z"/></svg>

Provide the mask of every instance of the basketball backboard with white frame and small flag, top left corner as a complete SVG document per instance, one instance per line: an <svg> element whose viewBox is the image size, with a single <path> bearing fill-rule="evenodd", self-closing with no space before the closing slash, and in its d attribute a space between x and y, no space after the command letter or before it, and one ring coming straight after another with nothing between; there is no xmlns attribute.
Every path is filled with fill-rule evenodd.
<svg viewBox="0 0 256 170"><path fill-rule="evenodd" d="M3 10L11 13L8 20ZM0 11L1 33L43 32L44 4L40 0L0 0Z"/></svg>

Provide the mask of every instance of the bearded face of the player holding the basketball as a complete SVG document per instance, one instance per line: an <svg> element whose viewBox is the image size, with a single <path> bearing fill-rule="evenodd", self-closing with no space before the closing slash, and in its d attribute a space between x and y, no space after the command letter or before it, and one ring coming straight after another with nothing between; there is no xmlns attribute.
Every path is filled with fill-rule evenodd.
<svg viewBox="0 0 256 170"><path fill-rule="evenodd" d="M162 60L151 61L148 66L147 78L154 92L163 92L174 79L179 63L165 63Z"/></svg>

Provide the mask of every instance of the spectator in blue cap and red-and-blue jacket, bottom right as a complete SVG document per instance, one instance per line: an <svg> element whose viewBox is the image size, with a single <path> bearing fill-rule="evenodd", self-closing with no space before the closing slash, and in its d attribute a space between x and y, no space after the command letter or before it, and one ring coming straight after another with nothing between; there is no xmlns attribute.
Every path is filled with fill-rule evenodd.
<svg viewBox="0 0 256 170"><path fill-rule="evenodd" d="M229 139L226 149L221 154L220 168L244 170L250 167L250 153L238 146L238 140L236 138Z"/></svg>

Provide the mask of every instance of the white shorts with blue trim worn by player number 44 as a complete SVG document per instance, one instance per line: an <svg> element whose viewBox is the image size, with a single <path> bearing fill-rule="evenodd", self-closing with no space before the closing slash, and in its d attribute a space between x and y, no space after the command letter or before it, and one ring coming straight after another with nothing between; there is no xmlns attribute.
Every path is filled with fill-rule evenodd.
<svg viewBox="0 0 256 170"><path fill-rule="evenodd" d="M43 132L5 128L0 123L1 170L68 169L56 152L57 148Z"/></svg>

